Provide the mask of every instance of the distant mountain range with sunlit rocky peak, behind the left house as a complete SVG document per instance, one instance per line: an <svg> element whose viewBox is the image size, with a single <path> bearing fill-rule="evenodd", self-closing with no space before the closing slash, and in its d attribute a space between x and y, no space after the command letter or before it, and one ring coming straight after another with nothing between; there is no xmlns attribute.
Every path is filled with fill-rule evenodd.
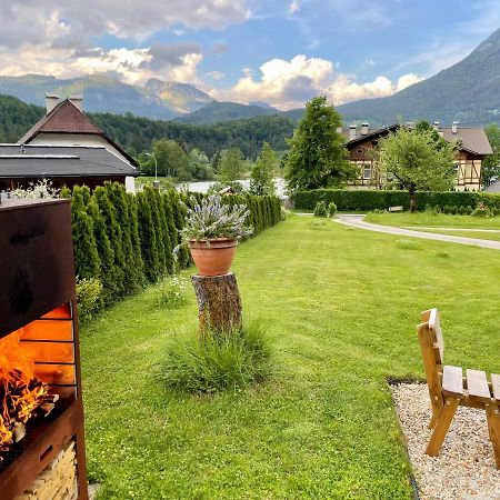
<svg viewBox="0 0 500 500"><path fill-rule="evenodd" d="M112 112L152 119L171 119L194 111L212 98L197 88L151 79L146 87L130 86L106 76L57 79L42 74L0 77L0 93L14 96L31 104L44 106L44 94L82 94L87 111Z"/></svg>

